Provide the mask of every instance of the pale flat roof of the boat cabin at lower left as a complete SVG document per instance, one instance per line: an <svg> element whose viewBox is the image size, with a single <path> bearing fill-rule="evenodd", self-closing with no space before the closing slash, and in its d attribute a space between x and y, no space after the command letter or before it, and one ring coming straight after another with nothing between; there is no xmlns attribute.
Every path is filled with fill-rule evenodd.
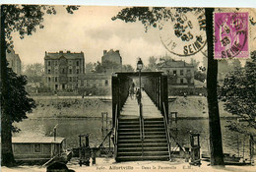
<svg viewBox="0 0 256 172"><path fill-rule="evenodd" d="M12 143L62 143L65 138L56 137L13 137Z"/></svg>

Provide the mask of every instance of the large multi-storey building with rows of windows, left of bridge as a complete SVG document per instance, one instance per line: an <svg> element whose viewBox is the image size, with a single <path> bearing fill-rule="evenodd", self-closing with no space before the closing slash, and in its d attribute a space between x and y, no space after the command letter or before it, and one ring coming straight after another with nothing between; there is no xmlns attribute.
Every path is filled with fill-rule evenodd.
<svg viewBox="0 0 256 172"><path fill-rule="evenodd" d="M46 52L44 56L44 82L52 90L74 90L79 76L85 74L84 52Z"/></svg>

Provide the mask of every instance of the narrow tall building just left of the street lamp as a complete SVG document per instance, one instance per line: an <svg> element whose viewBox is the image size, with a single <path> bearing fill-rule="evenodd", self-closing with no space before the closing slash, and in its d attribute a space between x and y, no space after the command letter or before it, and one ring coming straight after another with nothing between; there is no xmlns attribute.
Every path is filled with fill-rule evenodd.
<svg viewBox="0 0 256 172"><path fill-rule="evenodd" d="M103 50L103 56L101 57L101 66L103 67L103 73L113 73L122 70L122 57L119 50L109 51Z"/></svg>

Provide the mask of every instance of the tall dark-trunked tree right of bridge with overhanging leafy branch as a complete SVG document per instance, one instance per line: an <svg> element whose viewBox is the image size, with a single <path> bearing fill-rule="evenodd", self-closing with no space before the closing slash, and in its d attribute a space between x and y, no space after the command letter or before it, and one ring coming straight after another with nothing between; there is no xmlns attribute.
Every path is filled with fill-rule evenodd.
<svg viewBox="0 0 256 172"><path fill-rule="evenodd" d="M187 11L200 10L197 8L176 8L178 13L186 13ZM210 148L211 148L211 165L224 165L222 132L220 124L220 113L217 98L217 73L218 62L214 60L213 52L213 8L206 8L206 32L208 40L208 71L207 71L207 91L208 91L208 108L209 108L209 132L210 132ZM149 27L159 29L160 20L172 21L173 14L164 7L132 7L121 10L112 20L120 19L126 23L140 21L146 31Z"/></svg>

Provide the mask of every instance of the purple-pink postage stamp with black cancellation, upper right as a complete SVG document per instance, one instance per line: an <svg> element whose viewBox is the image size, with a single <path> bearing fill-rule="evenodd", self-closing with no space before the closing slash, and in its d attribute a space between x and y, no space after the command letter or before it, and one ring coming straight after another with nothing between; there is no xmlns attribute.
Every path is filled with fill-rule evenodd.
<svg viewBox="0 0 256 172"><path fill-rule="evenodd" d="M215 59L249 57L247 12L215 13Z"/></svg>

